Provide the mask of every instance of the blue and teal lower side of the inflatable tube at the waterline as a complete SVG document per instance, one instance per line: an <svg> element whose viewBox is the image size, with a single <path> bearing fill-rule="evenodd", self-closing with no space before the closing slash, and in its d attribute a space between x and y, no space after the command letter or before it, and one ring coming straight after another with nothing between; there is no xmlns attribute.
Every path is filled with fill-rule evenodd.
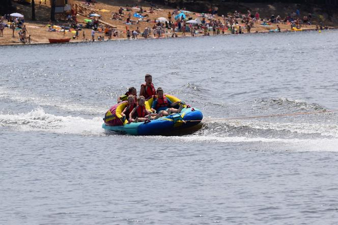
<svg viewBox="0 0 338 225"><path fill-rule="evenodd" d="M183 108L181 113L161 117L149 123L129 123L123 126L102 125L106 131L131 135L175 135L197 127L203 119L202 111L197 108Z"/></svg>

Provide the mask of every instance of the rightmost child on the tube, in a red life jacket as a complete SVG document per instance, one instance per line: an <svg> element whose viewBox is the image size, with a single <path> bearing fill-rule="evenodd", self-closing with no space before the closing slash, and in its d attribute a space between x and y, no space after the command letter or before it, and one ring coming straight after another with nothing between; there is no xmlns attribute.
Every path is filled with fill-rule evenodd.
<svg viewBox="0 0 338 225"><path fill-rule="evenodd" d="M157 89L157 98L153 101L153 104L151 105L152 110L156 110L158 115L160 117L162 116L168 116L171 113L181 113L181 110L183 108L183 102L177 101L177 102L171 102L169 99L167 99L163 95L163 89L158 88ZM172 108L173 106L180 104L180 107L177 108Z"/></svg>

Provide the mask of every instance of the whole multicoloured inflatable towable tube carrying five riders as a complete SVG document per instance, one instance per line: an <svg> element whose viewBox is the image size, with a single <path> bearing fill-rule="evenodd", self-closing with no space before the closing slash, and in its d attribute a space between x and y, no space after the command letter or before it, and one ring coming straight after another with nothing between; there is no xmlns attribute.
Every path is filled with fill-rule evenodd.
<svg viewBox="0 0 338 225"><path fill-rule="evenodd" d="M165 95L172 102L181 101L180 99ZM127 106L127 101L120 102L112 106L105 114L104 124L102 128L106 131L114 131L122 134L131 135L166 135L182 133L189 128L195 127L201 123L203 119L202 111L198 108L185 107L181 113L173 114L167 117L161 117L157 120L152 120L149 123L137 122L128 123L127 120L122 122L121 113ZM153 103L153 98L146 101L145 105L150 110Z"/></svg>

